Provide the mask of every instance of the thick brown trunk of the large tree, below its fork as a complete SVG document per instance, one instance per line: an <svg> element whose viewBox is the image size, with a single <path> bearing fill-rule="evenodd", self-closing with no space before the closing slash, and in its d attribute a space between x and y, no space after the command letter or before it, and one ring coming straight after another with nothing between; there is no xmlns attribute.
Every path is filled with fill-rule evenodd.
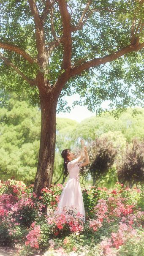
<svg viewBox="0 0 144 256"><path fill-rule="evenodd" d="M38 158L38 168L35 176L33 192L37 198L42 188L50 188L54 167L56 140L56 109L57 98L52 94L40 93L41 102L41 139ZM46 209L45 209L46 212Z"/></svg>

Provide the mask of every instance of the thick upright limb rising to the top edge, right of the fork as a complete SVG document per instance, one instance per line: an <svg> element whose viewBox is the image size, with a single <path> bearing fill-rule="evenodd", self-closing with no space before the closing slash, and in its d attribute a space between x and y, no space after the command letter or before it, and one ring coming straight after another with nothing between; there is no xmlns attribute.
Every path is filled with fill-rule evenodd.
<svg viewBox="0 0 144 256"><path fill-rule="evenodd" d="M63 31L63 60L61 70L65 69L68 72L71 67L71 15L68 12L67 3L65 0L58 0L60 14L62 16L62 31Z"/></svg>

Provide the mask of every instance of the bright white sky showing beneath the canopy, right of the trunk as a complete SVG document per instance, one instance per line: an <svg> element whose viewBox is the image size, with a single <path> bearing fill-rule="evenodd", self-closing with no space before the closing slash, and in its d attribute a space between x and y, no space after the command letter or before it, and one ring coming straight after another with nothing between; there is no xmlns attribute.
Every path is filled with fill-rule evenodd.
<svg viewBox="0 0 144 256"><path fill-rule="evenodd" d="M68 102L68 106L72 106L73 101L79 100L79 94L73 94L72 96L65 96L65 100ZM108 102L104 101L102 103L102 107L106 108L108 107ZM72 120L76 120L77 122L81 122L85 118L95 116L95 113L90 112L87 107L85 106L74 106L71 108L70 113L62 113L59 112L57 114L57 117L65 117L65 118L70 118Z"/></svg>

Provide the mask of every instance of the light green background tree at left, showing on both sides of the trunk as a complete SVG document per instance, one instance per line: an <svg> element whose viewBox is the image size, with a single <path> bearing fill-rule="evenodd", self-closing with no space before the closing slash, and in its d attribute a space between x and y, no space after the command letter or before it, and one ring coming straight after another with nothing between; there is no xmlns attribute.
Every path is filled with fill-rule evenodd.
<svg viewBox="0 0 144 256"><path fill-rule="evenodd" d="M0 177L2 180L9 177L22 179L30 185L34 182L38 164L40 109L30 106L23 97L20 98L13 93L7 104L0 109L0 123ZM67 142L64 144L65 132L62 131L65 127L72 129L74 125L76 122L73 120L57 118L53 182L59 178L63 170L60 149L64 145L66 147Z"/></svg>

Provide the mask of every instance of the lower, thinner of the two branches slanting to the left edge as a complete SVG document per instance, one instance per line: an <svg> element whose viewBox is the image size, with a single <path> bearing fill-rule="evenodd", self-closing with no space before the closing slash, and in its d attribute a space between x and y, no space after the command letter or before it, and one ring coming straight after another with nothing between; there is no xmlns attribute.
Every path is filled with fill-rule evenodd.
<svg viewBox="0 0 144 256"><path fill-rule="evenodd" d="M5 58L3 56L3 54L0 52L0 59L4 60L4 63L11 66L12 68L14 68L14 70L20 75L22 76L22 78L24 80L26 80L30 85L36 85L36 80L35 79L30 79L27 76L25 76L20 70L19 68L17 68L13 63L11 63L7 58Z"/></svg>

